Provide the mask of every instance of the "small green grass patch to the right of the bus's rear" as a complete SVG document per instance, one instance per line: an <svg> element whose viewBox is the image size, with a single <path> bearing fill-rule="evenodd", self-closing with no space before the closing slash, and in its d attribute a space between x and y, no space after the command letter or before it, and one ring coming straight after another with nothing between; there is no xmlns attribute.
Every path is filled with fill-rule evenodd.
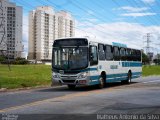
<svg viewBox="0 0 160 120"><path fill-rule="evenodd" d="M160 66L143 66L142 71L143 76L160 75Z"/></svg>

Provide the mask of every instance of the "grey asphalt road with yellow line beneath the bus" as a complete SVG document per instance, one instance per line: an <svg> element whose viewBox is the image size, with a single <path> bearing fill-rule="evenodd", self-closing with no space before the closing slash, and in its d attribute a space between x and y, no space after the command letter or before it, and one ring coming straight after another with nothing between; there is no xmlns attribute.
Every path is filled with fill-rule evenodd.
<svg viewBox="0 0 160 120"><path fill-rule="evenodd" d="M60 86L1 92L0 113L0 119L13 117L18 120L93 120L119 117L126 120L129 117L159 120L160 77L138 78L128 85L108 84L104 89L90 86L69 90L67 86ZM121 114L123 116L119 116Z"/></svg>

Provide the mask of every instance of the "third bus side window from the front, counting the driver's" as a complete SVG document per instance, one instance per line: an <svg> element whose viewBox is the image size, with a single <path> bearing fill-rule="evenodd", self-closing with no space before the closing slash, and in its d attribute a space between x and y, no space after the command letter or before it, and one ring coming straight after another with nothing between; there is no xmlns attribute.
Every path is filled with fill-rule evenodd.
<svg viewBox="0 0 160 120"><path fill-rule="evenodd" d="M113 50L111 45L106 45L106 60L113 60Z"/></svg>

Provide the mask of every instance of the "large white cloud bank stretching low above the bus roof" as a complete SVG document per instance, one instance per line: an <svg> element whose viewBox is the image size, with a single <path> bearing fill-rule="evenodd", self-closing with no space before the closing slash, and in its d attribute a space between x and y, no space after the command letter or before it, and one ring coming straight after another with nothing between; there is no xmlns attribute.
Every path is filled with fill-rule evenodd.
<svg viewBox="0 0 160 120"><path fill-rule="evenodd" d="M103 28L102 28L103 26ZM146 33L152 33L152 41L157 42L157 34L160 33L160 26L143 26L137 23L115 22L93 25L88 28L76 29L76 37L89 36L97 38L102 43L119 42L127 44L132 48L143 49L144 36Z"/></svg>

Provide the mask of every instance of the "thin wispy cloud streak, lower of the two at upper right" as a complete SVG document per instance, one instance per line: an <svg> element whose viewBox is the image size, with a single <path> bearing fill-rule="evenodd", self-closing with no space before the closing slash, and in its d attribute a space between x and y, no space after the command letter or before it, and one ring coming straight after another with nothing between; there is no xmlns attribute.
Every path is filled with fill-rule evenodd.
<svg viewBox="0 0 160 120"><path fill-rule="evenodd" d="M125 14L121 14L121 16L131 16L131 17L143 17L143 16L153 16L153 15L157 15L156 13L125 13Z"/></svg>

